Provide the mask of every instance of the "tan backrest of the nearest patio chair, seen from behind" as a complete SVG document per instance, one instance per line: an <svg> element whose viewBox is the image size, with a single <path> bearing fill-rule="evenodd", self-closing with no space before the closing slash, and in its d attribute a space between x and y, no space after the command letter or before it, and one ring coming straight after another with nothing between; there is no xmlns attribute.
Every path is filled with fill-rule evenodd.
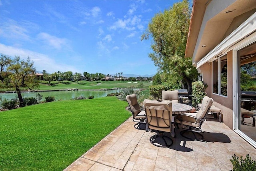
<svg viewBox="0 0 256 171"><path fill-rule="evenodd" d="M171 131L172 101L148 101L144 104L148 128Z"/></svg>

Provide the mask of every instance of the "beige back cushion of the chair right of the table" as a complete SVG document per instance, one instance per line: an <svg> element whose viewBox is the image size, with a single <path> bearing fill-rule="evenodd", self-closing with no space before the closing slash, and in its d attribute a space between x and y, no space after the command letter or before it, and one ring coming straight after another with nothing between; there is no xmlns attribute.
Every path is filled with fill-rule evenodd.
<svg viewBox="0 0 256 171"><path fill-rule="evenodd" d="M209 111L210 107L212 106L213 99L207 96L204 96L202 100L202 105L199 111L196 113L196 118L203 119L207 112ZM196 121L197 123L200 122L200 120Z"/></svg>

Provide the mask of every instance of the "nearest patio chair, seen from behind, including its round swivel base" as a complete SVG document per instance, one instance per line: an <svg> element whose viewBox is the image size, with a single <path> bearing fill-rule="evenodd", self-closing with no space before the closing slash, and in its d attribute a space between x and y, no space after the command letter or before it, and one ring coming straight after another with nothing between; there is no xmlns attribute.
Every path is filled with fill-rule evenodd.
<svg viewBox="0 0 256 171"><path fill-rule="evenodd" d="M148 129L157 133L150 137L150 143L157 147L170 147L173 141L164 132L171 133L174 129L172 101L147 101L144 108Z"/></svg>

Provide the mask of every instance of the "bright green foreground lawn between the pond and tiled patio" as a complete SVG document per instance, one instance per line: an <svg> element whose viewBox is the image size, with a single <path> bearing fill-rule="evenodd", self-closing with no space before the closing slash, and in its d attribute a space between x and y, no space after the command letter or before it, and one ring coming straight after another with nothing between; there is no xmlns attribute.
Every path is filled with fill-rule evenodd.
<svg viewBox="0 0 256 171"><path fill-rule="evenodd" d="M0 170L63 170L131 113L116 97L41 103L0 112Z"/></svg>

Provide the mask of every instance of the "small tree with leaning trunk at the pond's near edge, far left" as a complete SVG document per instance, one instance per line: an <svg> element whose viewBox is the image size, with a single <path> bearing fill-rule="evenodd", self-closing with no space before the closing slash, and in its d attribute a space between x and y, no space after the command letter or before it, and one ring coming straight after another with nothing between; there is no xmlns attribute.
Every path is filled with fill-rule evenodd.
<svg viewBox="0 0 256 171"><path fill-rule="evenodd" d="M27 60L20 60L19 56L15 56L13 63L7 68L12 74L10 77L10 86L15 87L20 101L20 107L24 106L22 99L21 87L26 87L30 90L39 86L36 80L36 68L34 68L34 62L30 62L30 58Z"/></svg>

